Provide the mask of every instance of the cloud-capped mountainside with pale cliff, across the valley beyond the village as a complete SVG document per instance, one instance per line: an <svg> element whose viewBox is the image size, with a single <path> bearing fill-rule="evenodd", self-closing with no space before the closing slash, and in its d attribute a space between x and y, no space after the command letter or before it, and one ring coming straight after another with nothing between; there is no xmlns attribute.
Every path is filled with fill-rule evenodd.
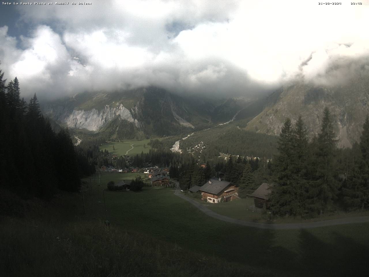
<svg viewBox="0 0 369 277"><path fill-rule="evenodd" d="M49 102L42 111L71 129L101 133L110 139L141 139L207 129L230 120L249 101L180 96L149 87L82 93Z"/></svg>

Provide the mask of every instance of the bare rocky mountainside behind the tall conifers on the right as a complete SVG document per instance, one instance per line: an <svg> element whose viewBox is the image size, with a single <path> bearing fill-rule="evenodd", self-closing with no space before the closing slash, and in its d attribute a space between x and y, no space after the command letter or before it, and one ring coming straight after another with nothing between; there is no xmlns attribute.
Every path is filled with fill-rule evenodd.
<svg viewBox="0 0 369 277"><path fill-rule="evenodd" d="M301 114L310 137L320 131L324 107L328 107L334 120L340 147L351 147L359 140L366 114L369 113L369 78L358 74L344 86L315 86L294 83L283 86L269 96L258 116L245 130L278 135L284 121L295 122Z"/></svg>

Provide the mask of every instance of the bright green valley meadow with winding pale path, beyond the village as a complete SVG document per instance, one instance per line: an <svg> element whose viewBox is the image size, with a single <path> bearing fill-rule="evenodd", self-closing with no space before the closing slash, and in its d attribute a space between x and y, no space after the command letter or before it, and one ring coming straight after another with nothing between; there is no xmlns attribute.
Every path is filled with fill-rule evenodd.
<svg viewBox="0 0 369 277"><path fill-rule="evenodd" d="M143 151L144 153L148 153L151 147L147 145L150 142L150 140L125 140L123 142L113 142L110 141L106 144L103 144L100 146L100 150L108 150L109 153L113 153L118 156L123 156L128 151L128 156L141 154ZM145 144L145 147L144 147ZM133 149L130 150L133 145ZM113 146L115 150L113 150Z"/></svg>

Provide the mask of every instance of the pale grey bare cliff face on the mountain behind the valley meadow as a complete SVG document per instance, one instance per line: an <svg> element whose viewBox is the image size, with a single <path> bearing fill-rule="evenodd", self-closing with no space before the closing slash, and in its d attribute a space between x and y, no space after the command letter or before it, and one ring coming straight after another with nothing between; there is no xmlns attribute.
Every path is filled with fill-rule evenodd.
<svg viewBox="0 0 369 277"><path fill-rule="evenodd" d="M102 110L74 110L64 106L48 106L44 113L46 116L75 129L98 131L116 116L135 124L136 127L140 126L138 120L134 119L131 112L121 103L118 103L117 107L106 105Z"/></svg>

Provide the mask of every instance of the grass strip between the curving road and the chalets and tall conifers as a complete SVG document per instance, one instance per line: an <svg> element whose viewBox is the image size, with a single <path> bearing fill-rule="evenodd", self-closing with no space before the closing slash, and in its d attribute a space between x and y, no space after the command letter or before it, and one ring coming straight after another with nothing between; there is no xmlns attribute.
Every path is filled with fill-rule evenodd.
<svg viewBox="0 0 369 277"><path fill-rule="evenodd" d="M191 194L186 194L186 196L192 197ZM270 215L269 214L261 214L260 212L254 211L254 198L241 198L236 199L231 202L224 202L218 204L211 204L205 203L201 200L201 198L195 199L197 202L205 205L207 208L211 209L212 211L219 213L221 215L229 216L230 218L240 219L244 221L251 221L251 222L270 222ZM287 218L280 218L274 217L273 223L296 223L296 222L313 222L313 221L321 221L321 220L330 220L330 219L339 219L339 218L349 218L355 216L369 216L369 211L365 212L337 212L331 215L322 215L317 218L312 219L303 219L301 217L287 217Z"/></svg>

